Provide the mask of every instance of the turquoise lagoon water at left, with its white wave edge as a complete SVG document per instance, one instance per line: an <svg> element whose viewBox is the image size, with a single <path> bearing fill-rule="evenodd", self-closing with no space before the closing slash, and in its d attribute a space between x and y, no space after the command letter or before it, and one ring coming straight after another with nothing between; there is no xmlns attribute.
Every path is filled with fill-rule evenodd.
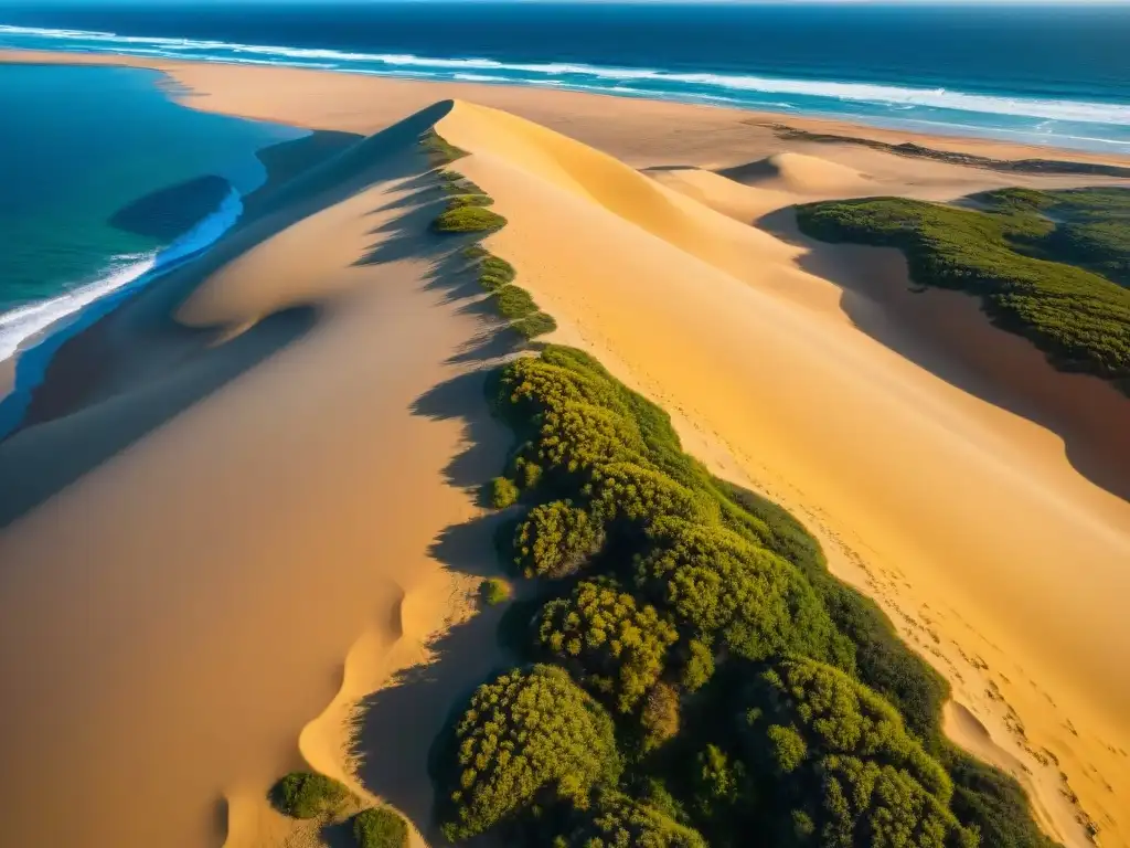
<svg viewBox="0 0 1130 848"><path fill-rule="evenodd" d="M255 152L303 135L193 111L163 86L133 69L0 66L0 358L214 241L266 176Z"/></svg>

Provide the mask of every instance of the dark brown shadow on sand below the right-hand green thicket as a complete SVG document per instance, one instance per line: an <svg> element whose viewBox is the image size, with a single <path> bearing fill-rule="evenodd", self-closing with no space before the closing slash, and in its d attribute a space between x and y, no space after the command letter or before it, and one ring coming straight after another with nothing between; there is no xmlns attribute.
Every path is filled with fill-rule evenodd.
<svg viewBox="0 0 1130 848"><path fill-rule="evenodd" d="M933 288L915 286L905 258L893 249L809 239L792 207L754 226L802 248L800 268L843 289L841 309L859 330L950 386L1055 433L1076 471L1130 501L1130 399L1116 389L1057 370L1027 339L994 327L971 295L963 295L973 309L957 329L953 322L942 327L941 312L923 317L932 301L915 297Z"/></svg>

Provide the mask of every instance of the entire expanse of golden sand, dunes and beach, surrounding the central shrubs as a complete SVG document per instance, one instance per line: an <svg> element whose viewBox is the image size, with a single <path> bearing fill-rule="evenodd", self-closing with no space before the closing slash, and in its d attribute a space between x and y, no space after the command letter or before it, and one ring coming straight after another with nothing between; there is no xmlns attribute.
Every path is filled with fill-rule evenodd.
<svg viewBox="0 0 1130 848"><path fill-rule="evenodd" d="M478 490L508 435L483 392L496 321L445 283L427 232L436 178L415 139L434 126L508 219L488 245L557 319L550 340L660 404L712 471L793 511L950 682L947 730L1022 781L1051 836L1086 846L1092 823L1105 848L1130 846L1130 400L1055 371L967 295L910 292L895 251L806 239L788 209L1130 181L573 92L0 61L150 68L199 110L393 128L331 175L264 192L203 258L69 340L0 442L19 482L0 504L2 674L26 693L0 736L24 777L2 807L14 840L278 845L289 825L266 789L306 763L436 843L428 746L505 660L475 592L501 568ZM60 775L82 787L66 816L46 812Z"/></svg>

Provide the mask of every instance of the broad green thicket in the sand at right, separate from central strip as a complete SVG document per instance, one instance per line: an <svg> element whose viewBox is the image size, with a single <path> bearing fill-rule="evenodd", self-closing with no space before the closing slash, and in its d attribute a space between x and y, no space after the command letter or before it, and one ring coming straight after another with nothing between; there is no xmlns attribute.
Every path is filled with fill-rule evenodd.
<svg viewBox="0 0 1130 848"><path fill-rule="evenodd" d="M824 241L898 248L915 283L979 295L994 323L1057 367L1130 395L1130 190L1008 189L971 200L980 208L809 204L797 220Z"/></svg>

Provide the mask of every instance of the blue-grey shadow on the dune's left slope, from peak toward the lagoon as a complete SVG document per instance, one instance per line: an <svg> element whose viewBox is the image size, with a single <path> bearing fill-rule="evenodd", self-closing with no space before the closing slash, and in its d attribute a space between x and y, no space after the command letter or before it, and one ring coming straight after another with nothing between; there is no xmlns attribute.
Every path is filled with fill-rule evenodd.
<svg viewBox="0 0 1130 848"><path fill-rule="evenodd" d="M46 339L43 348L54 353L45 363L35 348L21 355L12 396L29 400L0 441L0 528L307 332L313 305L268 315L231 338L227 328L188 328L173 315L214 272L273 235L374 184L417 179L426 166L416 141L450 110L438 103L359 141L324 133L303 149L290 145L285 166L275 168L285 179L258 190L245 217L207 252L77 335ZM295 175L299 165L307 170Z"/></svg>

